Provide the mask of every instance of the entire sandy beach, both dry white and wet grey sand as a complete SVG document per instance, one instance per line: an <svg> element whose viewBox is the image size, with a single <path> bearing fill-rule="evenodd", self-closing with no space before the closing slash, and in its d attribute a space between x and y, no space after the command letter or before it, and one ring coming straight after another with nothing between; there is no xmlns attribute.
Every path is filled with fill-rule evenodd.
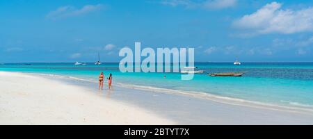
<svg viewBox="0 0 313 139"><path fill-rule="evenodd" d="M106 90L102 91L106 92ZM313 124L313 113L0 72L0 124Z"/></svg>

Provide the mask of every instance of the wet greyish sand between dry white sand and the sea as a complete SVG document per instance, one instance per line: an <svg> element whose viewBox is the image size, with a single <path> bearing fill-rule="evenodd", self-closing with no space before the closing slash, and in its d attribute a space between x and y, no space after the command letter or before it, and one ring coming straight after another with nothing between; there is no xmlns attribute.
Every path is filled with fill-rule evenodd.
<svg viewBox="0 0 313 139"><path fill-rule="evenodd" d="M19 72L17 74L34 76L35 78L39 76ZM58 81L56 78L49 79L49 81L54 80ZM116 86L115 90L111 92L108 90L98 92L95 88L90 88L90 85L95 85L95 83L89 83L88 85L85 82L70 83L59 81L58 83L64 83L66 86L79 86L81 90L85 90L90 95L96 94L98 95L96 97L99 98L106 97L107 99L104 99L104 101L110 100L122 104L125 103L132 107L143 109L143 112L149 110L149 113L153 112L154 116L165 117L164 119L172 124L313 124L312 113L303 113L302 111L289 110L288 108L287 111L284 111L282 109L271 109L266 106L246 106L242 105L243 103L227 104L225 101L170 94L160 92L159 90L147 91L121 88L120 86ZM142 123L138 122L135 124Z"/></svg>

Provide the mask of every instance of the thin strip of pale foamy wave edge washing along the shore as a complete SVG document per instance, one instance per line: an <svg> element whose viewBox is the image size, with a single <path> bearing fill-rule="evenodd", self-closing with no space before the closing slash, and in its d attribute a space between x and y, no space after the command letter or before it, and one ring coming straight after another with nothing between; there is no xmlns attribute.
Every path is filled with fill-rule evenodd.
<svg viewBox="0 0 313 139"><path fill-rule="evenodd" d="M60 78L65 79L65 81L87 81L90 83L97 83L97 81L91 81L88 79L81 79L74 76L63 76L63 75L57 75L57 74L37 74L37 73L29 73L33 74L35 76L53 76L54 78ZM167 88L156 88L152 86L143 86L143 85L131 85L131 84L125 84L125 83L115 83L115 86L118 86L119 88L128 88L128 89L135 89L135 90L143 90L143 91L152 91L152 92L160 92L160 93L166 93L166 94L172 94L172 95L183 95L186 97L193 97L197 99L205 99L209 101L216 101L218 103L223 104L230 104L230 105L237 105L237 106L248 106L252 108L266 108L271 109L275 111L286 111L291 113L307 113L313 115L313 108L305 108L304 106L284 106L280 104L270 104L270 103L264 103L260 101L250 101L246 99L238 99L233 97L224 97L220 95L213 95L206 92L195 92L195 91L184 91L184 90L172 90ZM106 86L106 83L104 83L104 86ZM90 86L86 86L89 88Z"/></svg>

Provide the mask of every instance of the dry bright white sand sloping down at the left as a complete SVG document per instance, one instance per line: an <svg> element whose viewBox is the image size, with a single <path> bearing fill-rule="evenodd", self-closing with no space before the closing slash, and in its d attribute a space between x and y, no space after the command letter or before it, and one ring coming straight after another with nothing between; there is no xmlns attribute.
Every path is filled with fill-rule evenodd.
<svg viewBox="0 0 313 139"><path fill-rule="evenodd" d="M74 85L0 72L0 124L175 124Z"/></svg>

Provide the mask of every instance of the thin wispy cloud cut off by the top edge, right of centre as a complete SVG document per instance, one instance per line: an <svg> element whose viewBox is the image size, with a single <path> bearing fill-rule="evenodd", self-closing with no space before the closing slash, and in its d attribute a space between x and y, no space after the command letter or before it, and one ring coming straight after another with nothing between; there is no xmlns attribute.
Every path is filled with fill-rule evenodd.
<svg viewBox="0 0 313 139"><path fill-rule="evenodd" d="M236 5L237 0L163 0L161 3L168 6L184 6L186 8L222 9Z"/></svg>

